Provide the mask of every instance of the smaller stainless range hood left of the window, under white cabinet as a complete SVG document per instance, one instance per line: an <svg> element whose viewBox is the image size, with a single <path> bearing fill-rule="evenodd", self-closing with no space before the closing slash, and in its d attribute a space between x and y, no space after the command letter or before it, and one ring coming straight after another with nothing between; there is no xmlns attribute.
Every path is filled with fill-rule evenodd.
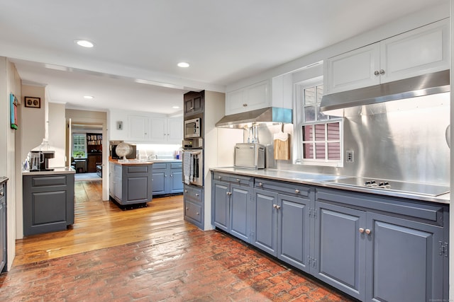
<svg viewBox="0 0 454 302"><path fill-rule="evenodd" d="M245 128L255 124L292 123L292 109L269 107L226 115L216 123L221 128Z"/></svg>

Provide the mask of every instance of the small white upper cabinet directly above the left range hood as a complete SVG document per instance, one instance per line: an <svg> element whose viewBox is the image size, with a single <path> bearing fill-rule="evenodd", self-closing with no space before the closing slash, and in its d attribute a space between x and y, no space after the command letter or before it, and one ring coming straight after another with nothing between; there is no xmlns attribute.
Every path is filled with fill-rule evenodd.
<svg viewBox="0 0 454 302"><path fill-rule="evenodd" d="M226 93L226 115L270 107L270 81Z"/></svg>

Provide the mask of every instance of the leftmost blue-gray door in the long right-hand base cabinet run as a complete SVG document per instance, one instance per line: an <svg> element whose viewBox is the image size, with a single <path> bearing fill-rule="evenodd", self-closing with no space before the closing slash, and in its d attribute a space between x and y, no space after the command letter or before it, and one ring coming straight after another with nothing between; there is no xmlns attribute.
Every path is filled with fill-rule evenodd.
<svg viewBox="0 0 454 302"><path fill-rule="evenodd" d="M230 228L230 197L228 194L230 192L230 185L228 182L214 180L213 188L214 225L228 232Z"/></svg>

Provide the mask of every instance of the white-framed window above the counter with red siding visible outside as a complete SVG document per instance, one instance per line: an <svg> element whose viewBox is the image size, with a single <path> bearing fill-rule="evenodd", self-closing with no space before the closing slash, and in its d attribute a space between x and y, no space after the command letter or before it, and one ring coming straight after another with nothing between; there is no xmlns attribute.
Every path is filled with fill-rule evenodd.
<svg viewBox="0 0 454 302"><path fill-rule="evenodd" d="M297 84L300 112L302 163L313 165L342 164L342 119L320 111L323 84L314 81Z"/></svg>

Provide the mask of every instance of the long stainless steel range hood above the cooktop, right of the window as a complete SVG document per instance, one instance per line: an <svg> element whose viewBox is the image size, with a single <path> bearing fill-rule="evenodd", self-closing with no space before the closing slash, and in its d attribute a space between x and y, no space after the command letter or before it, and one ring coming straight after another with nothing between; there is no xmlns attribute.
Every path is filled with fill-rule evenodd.
<svg viewBox="0 0 454 302"><path fill-rule="evenodd" d="M329 110L449 92L449 74L449 70L438 71L409 79L324 95L321 98L320 110L327 113Z"/></svg>

